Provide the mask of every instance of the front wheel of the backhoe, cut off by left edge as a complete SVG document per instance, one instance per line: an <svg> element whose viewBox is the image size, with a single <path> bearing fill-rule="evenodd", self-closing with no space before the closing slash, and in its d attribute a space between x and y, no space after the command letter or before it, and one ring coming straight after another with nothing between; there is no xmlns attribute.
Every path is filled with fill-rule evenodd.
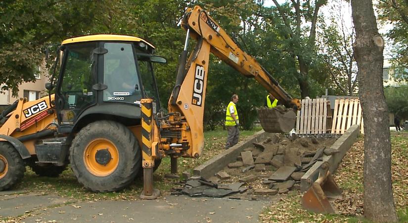
<svg viewBox="0 0 408 223"><path fill-rule="evenodd" d="M24 177L26 168L20 154L8 142L0 142L0 160L0 162L2 162L0 191L3 191L20 182Z"/></svg>

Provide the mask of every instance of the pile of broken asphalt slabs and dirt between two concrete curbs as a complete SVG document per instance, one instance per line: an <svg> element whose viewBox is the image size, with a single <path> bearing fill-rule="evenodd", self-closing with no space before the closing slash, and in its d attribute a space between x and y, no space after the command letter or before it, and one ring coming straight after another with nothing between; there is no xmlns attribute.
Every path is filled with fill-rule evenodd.
<svg viewBox="0 0 408 223"><path fill-rule="evenodd" d="M173 194L262 200L270 195L300 189L300 179L323 153L329 154L334 138L287 137L275 134L245 148L235 162L209 179L181 181Z"/></svg>

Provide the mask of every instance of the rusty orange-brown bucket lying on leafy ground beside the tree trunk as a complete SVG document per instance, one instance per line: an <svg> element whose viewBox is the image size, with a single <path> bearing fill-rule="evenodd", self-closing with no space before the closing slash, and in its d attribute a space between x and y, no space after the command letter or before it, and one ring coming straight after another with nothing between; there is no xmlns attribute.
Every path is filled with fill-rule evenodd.
<svg viewBox="0 0 408 223"><path fill-rule="evenodd" d="M315 213L334 214L336 210L330 202L342 198L342 190L339 189L330 171L319 174L318 179L303 195L302 206L308 211Z"/></svg>

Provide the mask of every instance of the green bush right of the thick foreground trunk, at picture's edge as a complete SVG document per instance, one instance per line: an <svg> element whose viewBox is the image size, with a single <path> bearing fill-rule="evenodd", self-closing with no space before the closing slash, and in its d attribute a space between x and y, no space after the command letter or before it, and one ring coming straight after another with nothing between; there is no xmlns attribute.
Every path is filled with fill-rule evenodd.
<svg viewBox="0 0 408 223"><path fill-rule="evenodd" d="M387 87L384 89L384 95L388 111L408 118L408 85Z"/></svg>

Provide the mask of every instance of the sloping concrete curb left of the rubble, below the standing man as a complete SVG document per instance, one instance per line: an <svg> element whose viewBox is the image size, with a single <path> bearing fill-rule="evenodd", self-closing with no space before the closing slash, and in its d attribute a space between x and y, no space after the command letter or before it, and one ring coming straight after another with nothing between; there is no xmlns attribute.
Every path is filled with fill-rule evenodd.
<svg viewBox="0 0 408 223"><path fill-rule="evenodd" d="M236 157L239 156L245 148L253 147L252 143L262 142L268 137L271 137L273 134L275 133L268 133L264 130L255 133L255 135L250 137L247 141L236 144L235 146L223 151L218 156L213 157L211 160L194 168L193 178L198 176L202 176L204 178L214 176L218 171L227 166L227 164L236 161Z"/></svg>

